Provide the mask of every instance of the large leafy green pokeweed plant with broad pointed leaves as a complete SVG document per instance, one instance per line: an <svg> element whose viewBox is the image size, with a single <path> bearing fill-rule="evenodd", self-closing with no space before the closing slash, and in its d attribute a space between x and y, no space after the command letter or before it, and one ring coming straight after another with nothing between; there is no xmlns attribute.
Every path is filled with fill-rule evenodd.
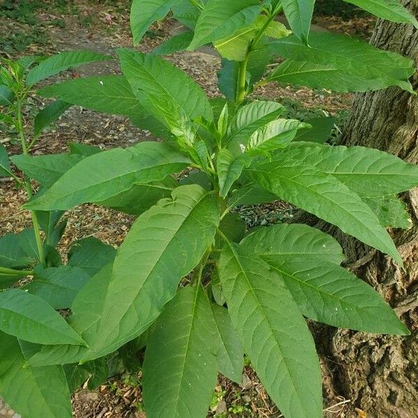
<svg viewBox="0 0 418 418"><path fill-rule="evenodd" d="M396 1L349 2L418 27ZM403 265L385 228L410 226L396 195L418 185L418 168L379 150L329 146L315 135L303 141L318 132L323 142L327 124L284 118L279 102L251 97L271 82L414 93L410 59L348 36L309 35L313 9L314 0L134 0L135 44L168 13L187 31L150 54L119 49L121 75L35 90L62 70L109 57L63 52L6 61L2 121L20 136L22 155L10 160L24 177L3 147L1 173L26 187L33 230L0 240L0 394L24 418L70 418L70 392L87 378L100 384L112 356L132 359L145 347L147 417L205 417L217 373L240 381L246 353L284 417L319 418L320 367L304 317L409 334L371 286L341 267L341 247L330 235L303 224L247 231L234 212L288 201ZM281 13L292 33L277 22ZM160 57L210 43L222 56L224 98L209 99ZM284 61L268 67L277 57ZM26 139L22 105L30 93L57 100L36 116ZM127 116L161 141L29 155L42 128L73 104ZM29 179L40 185L34 196ZM65 227L60 219L82 203L136 220L117 252L88 238L61 265L54 249ZM33 279L15 284L27 275Z"/></svg>

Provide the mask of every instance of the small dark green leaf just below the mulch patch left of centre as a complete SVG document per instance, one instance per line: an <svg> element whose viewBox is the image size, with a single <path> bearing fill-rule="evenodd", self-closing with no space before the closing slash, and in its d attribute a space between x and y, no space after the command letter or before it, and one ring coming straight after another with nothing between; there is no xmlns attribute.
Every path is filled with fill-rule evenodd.
<svg viewBox="0 0 418 418"><path fill-rule="evenodd" d="M68 265L84 270L90 277L98 274L116 256L116 249L97 238L76 241L68 253Z"/></svg>

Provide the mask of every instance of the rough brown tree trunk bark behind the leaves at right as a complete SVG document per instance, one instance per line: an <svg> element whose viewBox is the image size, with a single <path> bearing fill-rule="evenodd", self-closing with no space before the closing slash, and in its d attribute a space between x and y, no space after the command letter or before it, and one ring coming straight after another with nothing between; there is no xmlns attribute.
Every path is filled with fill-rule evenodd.
<svg viewBox="0 0 418 418"><path fill-rule="evenodd" d="M418 0L402 3L418 17ZM418 64L418 31L412 26L379 21L371 42L409 56ZM418 77L412 83L417 89ZM417 96L397 87L358 94L342 144L379 148L418 164ZM309 222L341 242L348 268L374 286L412 332L408 337L373 336L314 325L323 357L325 396L342 394L352 401L341 417L362 416L359 410L368 418L418 417L418 189L406 193L403 199L408 203L413 226L391 233L405 272L388 256L334 227L312 219ZM359 409L358 415L355 408Z"/></svg>

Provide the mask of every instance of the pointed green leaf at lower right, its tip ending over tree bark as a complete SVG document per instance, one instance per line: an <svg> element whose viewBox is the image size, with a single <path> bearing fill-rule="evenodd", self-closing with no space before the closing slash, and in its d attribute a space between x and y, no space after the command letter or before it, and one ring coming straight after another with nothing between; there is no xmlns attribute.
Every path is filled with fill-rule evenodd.
<svg viewBox="0 0 418 418"><path fill-rule="evenodd" d="M310 256L263 260L284 280L304 316L373 334L410 334L371 286L339 265Z"/></svg>

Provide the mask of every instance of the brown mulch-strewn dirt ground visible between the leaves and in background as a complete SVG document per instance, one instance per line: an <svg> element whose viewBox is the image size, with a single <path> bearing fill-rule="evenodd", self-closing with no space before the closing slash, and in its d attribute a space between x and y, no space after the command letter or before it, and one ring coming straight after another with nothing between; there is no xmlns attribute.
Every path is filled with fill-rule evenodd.
<svg viewBox="0 0 418 418"><path fill-rule="evenodd" d="M7 0L9 3L10 0ZM29 1L29 3L31 3ZM36 1L33 1L36 3ZM16 58L23 54L51 54L68 49L93 49L114 55L118 47L132 47L129 29L128 1L44 1L45 4L31 11L31 23L27 17L0 14L0 56ZM0 5L1 6L1 5ZM29 20L29 22L28 22ZM373 28L370 18L354 19L350 22L337 17L316 17L315 24L330 31L340 31L356 36L368 36ZM144 42L138 49L144 52L152 50L164 38L176 30L176 23L170 20L155 24L148 31ZM10 33L17 33L13 38ZM20 34L23 34L20 36ZM25 38L26 34L26 38ZM22 40L22 39L23 40ZM26 45L26 40L29 44ZM27 42L26 42L27 43ZM23 45L23 46L22 46ZM23 49L22 49L23 48ZM3 49L3 50L1 50ZM216 72L219 69L219 58L206 52L185 52L169 57L173 63L185 70L196 79L211 96L220 95L217 89ZM62 79L84 75L110 74L118 72L116 61L90 65L82 69L68 71L61 75ZM325 111L328 114L343 114L350 109L353 96L336 95L327 91L312 91L307 88L265 86L255 92L256 96L295 104L295 111L302 107L315 114ZM40 98L33 98L34 104L45 104ZM28 132L30 132L31 109L25 109ZM1 126L0 126L1 129ZM113 148L127 146L137 141L150 138L150 132L138 130L130 122L119 116L98 114L93 111L72 107L45 134L42 135L33 154L62 153L68 150L72 141ZM10 153L20 150L13 143L12 132L1 132L0 141ZM0 235L18 232L29 226L28 212L21 210L25 201L22 190L16 191L13 183L0 183ZM242 214L248 222L275 222L284 215L288 208L276 203L273 206L247 208ZM85 205L67 214L68 229L61 240L61 253L77 239L94 236L117 247L125 237L132 217L99 206ZM332 369L322 358L324 368ZM144 418L141 397L141 373L123 374L111 378L96 391L82 389L73 396L73 408L76 418ZM324 381L325 417L353 417L346 415L346 405L350 402L342 398L332 387L331 382ZM0 408L0 418L3 415ZM5 412L4 412L5 414ZM11 416L11 415L10 415ZM279 418L277 408L270 401L263 386L257 380L251 365L247 364L241 385L235 385L219 376L219 382L212 398L209 417L270 417ZM361 411L358 416L362 417ZM8 417L8 415L4 415Z"/></svg>

